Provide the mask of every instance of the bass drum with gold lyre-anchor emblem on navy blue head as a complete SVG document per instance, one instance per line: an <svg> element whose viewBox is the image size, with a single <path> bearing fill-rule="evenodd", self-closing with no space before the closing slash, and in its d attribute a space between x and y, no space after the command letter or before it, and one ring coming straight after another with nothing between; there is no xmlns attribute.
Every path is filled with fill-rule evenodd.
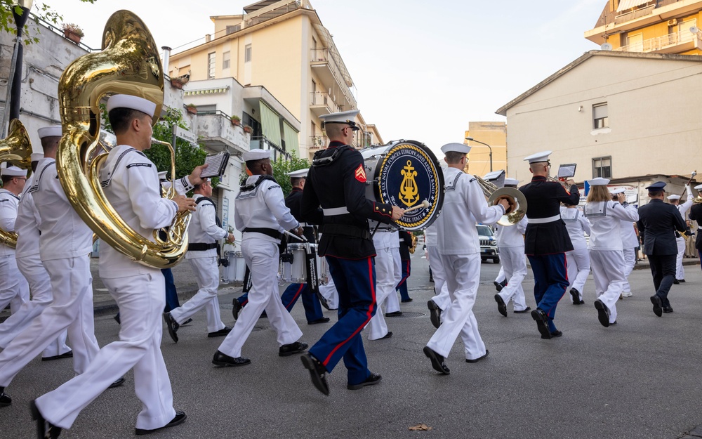
<svg viewBox="0 0 702 439"><path fill-rule="evenodd" d="M444 204L444 173L434 153L414 140L395 140L361 150L366 164L366 198L409 209L429 202L395 221L404 230L428 228ZM376 227L370 221L371 230ZM380 224L379 228L392 228Z"/></svg>

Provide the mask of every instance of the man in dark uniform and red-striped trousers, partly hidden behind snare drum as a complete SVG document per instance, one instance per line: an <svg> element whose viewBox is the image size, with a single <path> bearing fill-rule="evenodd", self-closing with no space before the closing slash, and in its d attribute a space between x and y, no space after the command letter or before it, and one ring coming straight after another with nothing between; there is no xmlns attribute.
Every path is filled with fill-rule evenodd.
<svg viewBox="0 0 702 439"><path fill-rule="evenodd" d="M290 209L296 220L300 221L300 204L303 201L303 188L305 188L305 178L307 178L308 169L300 169L298 171L289 172L290 183L293 190L285 197L285 205ZM307 242L314 244L317 240L314 238L314 228L300 221L303 226L303 236L307 238ZM318 267L319 268L319 267ZM314 294L314 291L307 284L289 284L283 292L280 300L283 302L285 309L290 312L295 306L295 303L302 296L303 307L305 308L305 317L307 317L307 325L316 325L317 323L329 322L329 317L324 317L322 313L322 305L319 303L319 297ZM324 297L322 298L324 299ZM326 302L326 299L324 299ZM326 305L326 303L325 303Z"/></svg>

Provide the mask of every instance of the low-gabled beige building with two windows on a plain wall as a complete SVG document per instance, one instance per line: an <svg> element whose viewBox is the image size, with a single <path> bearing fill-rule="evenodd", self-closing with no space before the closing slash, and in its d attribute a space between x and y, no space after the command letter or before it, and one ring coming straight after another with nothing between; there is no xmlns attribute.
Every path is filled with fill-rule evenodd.
<svg viewBox="0 0 702 439"><path fill-rule="evenodd" d="M670 189L702 163L702 57L590 51L497 110L507 117L510 176L529 180L524 157L552 150L577 163L576 181L597 176ZM687 181L687 180L685 180Z"/></svg>

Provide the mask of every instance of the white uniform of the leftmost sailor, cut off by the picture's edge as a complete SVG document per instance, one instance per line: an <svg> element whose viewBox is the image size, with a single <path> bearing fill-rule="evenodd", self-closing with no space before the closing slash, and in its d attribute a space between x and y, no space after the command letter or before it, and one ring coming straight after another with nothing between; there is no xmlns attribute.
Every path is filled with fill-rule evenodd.
<svg viewBox="0 0 702 439"><path fill-rule="evenodd" d="M25 187L27 185L25 184ZM20 197L7 189L0 189L0 228L6 232L15 231L17 205ZM0 244L0 310L10 305L14 314L29 301L29 285L17 269L15 249Z"/></svg>

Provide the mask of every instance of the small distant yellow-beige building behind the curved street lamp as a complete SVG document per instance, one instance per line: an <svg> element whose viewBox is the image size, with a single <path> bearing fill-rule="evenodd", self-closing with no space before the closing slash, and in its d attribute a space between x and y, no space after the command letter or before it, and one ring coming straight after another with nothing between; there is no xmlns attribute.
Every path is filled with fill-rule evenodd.
<svg viewBox="0 0 702 439"><path fill-rule="evenodd" d="M482 177L490 171L508 170L505 122L468 122L464 137L475 140L465 140L465 144L471 147L468 172ZM510 176L509 172L507 176Z"/></svg>

